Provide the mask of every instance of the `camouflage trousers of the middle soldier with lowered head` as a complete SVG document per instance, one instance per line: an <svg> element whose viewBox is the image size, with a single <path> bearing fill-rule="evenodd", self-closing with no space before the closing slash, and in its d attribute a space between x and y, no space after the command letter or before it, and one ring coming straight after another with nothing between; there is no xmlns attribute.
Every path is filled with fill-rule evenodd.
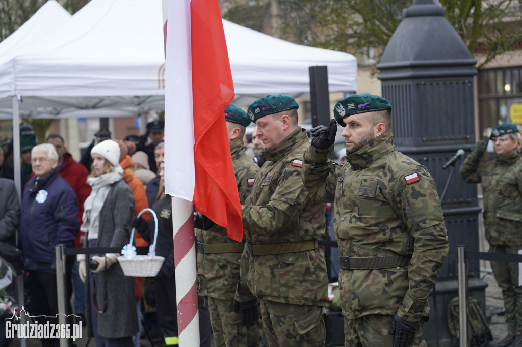
<svg viewBox="0 0 522 347"><path fill-rule="evenodd" d="M263 330L269 347L324 346L325 308L259 299Z"/></svg>

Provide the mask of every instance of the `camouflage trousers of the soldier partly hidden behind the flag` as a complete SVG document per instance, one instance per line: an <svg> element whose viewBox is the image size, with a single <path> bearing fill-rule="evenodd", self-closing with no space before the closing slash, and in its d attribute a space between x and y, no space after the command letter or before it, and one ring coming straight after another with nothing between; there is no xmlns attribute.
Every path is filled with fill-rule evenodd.
<svg viewBox="0 0 522 347"><path fill-rule="evenodd" d="M245 327L239 313L234 312L232 300L208 297L210 324L216 347L259 347L261 344L261 319L257 324Z"/></svg>

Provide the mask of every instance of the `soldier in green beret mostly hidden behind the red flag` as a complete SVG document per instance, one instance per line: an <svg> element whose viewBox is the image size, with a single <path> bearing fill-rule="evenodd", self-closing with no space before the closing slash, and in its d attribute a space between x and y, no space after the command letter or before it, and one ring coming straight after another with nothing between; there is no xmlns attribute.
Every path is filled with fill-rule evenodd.
<svg viewBox="0 0 522 347"><path fill-rule="evenodd" d="M259 167L245 153L243 135L250 119L241 108L230 104L225 110L227 131L238 183L239 199L243 204L250 195ZM255 347L261 341L261 320L241 324L239 312L234 312L234 294L239 281L239 267L244 243L227 236L227 229L213 224L197 213L196 227L199 295L208 296L210 321L216 347ZM198 229L199 228L199 229ZM205 231L204 231L205 230ZM251 323L251 324L250 324Z"/></svg>

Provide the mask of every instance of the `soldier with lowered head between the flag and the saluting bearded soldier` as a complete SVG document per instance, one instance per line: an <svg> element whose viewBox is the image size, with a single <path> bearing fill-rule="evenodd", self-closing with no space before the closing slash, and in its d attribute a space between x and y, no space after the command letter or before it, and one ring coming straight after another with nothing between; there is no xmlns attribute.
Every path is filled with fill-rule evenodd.
<svg viewBox="0 0 522 347"><path fill-rule="evenodd" d="M309 142L297 126L298 107L280 94L248 106L267 162L242 206L247 246L236 302L249 313L257 297L272 347L325 345L328 279L317 240L325 232L326 203L311 202L303 186L302 160Z"/></svg>

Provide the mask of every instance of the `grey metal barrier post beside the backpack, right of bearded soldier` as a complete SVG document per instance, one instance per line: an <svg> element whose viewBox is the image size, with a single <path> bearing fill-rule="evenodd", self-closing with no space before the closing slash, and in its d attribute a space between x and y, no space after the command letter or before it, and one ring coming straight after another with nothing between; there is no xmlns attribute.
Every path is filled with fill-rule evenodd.
<svg viewBox="0 0 522 347"><path fill-rule="evenodd" d="M458 255L458 308L459 308L459 346L469 347L468 332L468 259L467 246L457 247Z"/></svg>

